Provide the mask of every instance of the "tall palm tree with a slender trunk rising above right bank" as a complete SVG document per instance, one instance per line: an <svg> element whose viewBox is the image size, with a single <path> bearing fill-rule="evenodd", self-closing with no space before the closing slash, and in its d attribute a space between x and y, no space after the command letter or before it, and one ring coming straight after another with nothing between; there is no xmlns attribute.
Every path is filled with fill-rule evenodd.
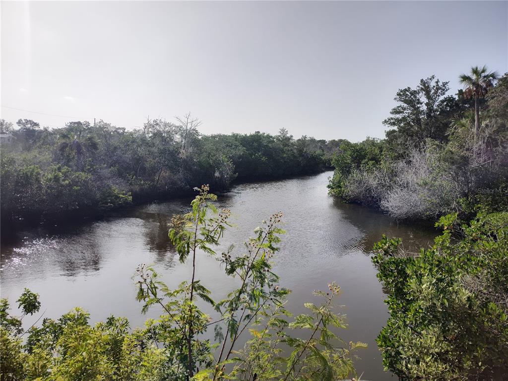
<svg viewBox="0 0 508 381"><path fill-rule="evenodd" d="M497 72L488 72L487 67L474 66L469 74L460 75L460 83L464 85L464 95L467 98L474 98L474 140L480 130L480 98L484 98L487 91L494 86L495 80L499 78Z"/></svg>

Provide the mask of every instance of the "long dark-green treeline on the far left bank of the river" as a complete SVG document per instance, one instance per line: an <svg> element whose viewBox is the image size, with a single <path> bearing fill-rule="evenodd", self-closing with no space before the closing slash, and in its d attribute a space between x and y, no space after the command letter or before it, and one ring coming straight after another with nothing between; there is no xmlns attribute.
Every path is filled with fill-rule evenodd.
<svg viewBox="0 0 508 381"><path fill-rule="evenodd" d="M148 120L127 131L102 120L41 128L20 119L1 120L2 226L13 220L65 218L148 200L192 194L195 184L225 190L234 179L311 174L331 165L337 141L281 129L272 136L200 135L200 121Z"/></svg>

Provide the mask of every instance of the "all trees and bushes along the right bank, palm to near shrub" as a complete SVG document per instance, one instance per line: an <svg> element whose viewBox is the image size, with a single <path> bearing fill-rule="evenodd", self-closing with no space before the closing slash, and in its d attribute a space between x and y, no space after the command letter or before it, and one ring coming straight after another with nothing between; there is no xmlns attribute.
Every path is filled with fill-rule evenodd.
<svg viewBox="0 0 508 381"><path fill-rule="evenodd" d="M330 192L398 219L437 220L430 248L398 238L372 258L390 319L377 338L401 380L508 378L508 75L397 92L386 139L342 142Z"/></svg>

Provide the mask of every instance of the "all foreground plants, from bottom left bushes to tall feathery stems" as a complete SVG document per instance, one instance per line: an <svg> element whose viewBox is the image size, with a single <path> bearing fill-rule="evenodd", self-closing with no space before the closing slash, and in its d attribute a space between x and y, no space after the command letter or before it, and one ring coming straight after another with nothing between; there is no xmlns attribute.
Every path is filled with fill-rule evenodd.
<svg viewBox="0 0 508 381"><path fill-rule="evenodd" d="M242 249L214 251L229 226L230 211L217 210L216 197L203 186L192 211L175 216L170 238L181 262L191 261L190 279L169 290L146 265L137 270L137 300L142 311L156 308L158 319L132 332L123 318L109 317L90 326L75 309L58 320L23 331L21 319L40 309L38 295L25 290L23 316L12 316L0 301L2 381L17 380L315 380L335 381L354 374L352 358L362 343L342 343L335 335L344 317L334 312L339 288L315 292L320 304L305 303L308 314L292 316L284 308L289 290L279 287L271 261L278 251L281 213L273 214ZM214 301L198 279L196 261L211 255L239 287ZM213 306L216 316L203 312ZM214 326L214 338L206 331ZM335 328L335 329L334 329ZM250 331L250 340L240 337ZM294 334L297 332L297 334ZM22 341L23 335L26 336Z"/></svg>

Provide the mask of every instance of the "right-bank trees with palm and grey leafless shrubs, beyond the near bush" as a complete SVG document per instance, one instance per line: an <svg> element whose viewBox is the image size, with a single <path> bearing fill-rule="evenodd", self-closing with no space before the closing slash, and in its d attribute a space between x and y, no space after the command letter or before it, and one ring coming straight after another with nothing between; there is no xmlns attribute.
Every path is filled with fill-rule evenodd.
<svg viewBox="0 0 508 381"><path fill-rule="evenodd" d="M385 139L343 142L330 191L398 219L508 208L508 75L472 68L447 95L433 76L397 92Z"/></svg>

